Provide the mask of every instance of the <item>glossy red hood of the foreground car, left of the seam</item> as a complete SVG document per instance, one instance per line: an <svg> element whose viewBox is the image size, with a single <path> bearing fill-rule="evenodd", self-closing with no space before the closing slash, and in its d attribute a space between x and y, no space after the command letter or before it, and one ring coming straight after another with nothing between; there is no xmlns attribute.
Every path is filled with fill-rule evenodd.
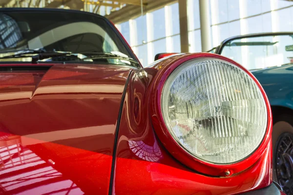
<svg viewBox="0 0 293 195"><path fill-rule="evenodd" d="M0 72L0 194L107 194L130 71L55 64Z"/></svg>

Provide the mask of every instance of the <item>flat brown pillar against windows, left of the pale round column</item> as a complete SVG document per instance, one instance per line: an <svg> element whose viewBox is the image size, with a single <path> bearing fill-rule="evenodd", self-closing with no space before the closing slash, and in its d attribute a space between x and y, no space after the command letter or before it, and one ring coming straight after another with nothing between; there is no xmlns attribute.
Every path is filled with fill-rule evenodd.
<svg viewBox="0 0 293 195"><path fill-rule="evenodd" d="M181 52L189 52L187 0L179 0L178 3Z"/></svg>

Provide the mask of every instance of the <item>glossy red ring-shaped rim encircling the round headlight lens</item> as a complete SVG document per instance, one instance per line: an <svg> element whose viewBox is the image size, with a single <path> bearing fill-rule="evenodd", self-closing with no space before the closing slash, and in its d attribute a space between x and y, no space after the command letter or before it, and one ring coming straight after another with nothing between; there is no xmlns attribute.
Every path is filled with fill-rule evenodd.
<svg viewBox="0 0 293 195"><path fill-rule="evenodd" d="M186 152L183 148L181 148L177 144L175 139L171 136L171 134L167 130L167 127L163 119L163 115L161 113L161 94L163 91L164 83L166 82L169 74L175 68L177 68L180 64L190 59L210 58L210 57L230 61L231 63L239 66L247 74L249 74L251 78L253 78L254 81L257 83L258 87L261 89L261 92L265 97L267 110L268 110L267 133L261 145L251 156L249 156L245 160L234 163L234 164L230 164L230 165L216 165L216 164L204 162L200 159L194 158L193 156L189 155L188 152ZM167 150L175 158L181 161L183 164L187 165L188 167L192 168L195 171L208 174L210 176L225 176L226 170L229 170L231 174L233 173L236 174L236 173L242 172L243 170L249 168L252 164L254 164L260 158L260 156L264 154L265 150L267 150L267 146L271 140L271 133L272 133L272 115L271 115L271 107L269 104L269 100L267 96L265 95L265 92L262 89L261 85L256 80L256 78L254 78L254 76L244 67L242 67L240 64L233 62L232 60L226 57L223 57L220 55L213 55L209 53L189 54L189 55L184 55L180 57L174 57L174 58L170 58L170 61L168 62L166 61L165 63L166 64L164 64L163 68L161 68L158 71L158 74L156 78L154 79L154 84L153 84L152 92L151 92L153 96L151 96L152 99L150 101L150 104L151 104L150 115L152 116L154 130L156 131L160 140L162 140L163 145L167 148Z"/></svg>

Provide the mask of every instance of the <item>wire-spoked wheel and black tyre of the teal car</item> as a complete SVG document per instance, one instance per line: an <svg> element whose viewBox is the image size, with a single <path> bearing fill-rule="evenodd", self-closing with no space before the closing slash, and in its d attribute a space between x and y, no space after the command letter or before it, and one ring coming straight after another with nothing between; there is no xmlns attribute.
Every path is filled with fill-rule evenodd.
<svg viewBox="0 0 293 195"><path fill-rule="evenodd" d="M273 180L293 195L293 116L278 116L272 127Z"/></svg>

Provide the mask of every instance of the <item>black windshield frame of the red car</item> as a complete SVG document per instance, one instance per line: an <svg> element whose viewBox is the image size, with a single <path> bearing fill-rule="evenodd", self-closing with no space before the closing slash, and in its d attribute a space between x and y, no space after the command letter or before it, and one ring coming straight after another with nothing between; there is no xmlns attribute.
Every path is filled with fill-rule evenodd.
<svg viewBox="0 0 293 195"><path fill-rule="evenodd" d="M129 45L127 44L126 40L122 37L121 33L117 30L117 28L114 26L112 22L110 22L108 19L106 19L103 16L100 16L98 14L93 14L90 12L83 12L83 11L78 11L78 10L66 10L66 9L48 9L48 8L0 8L0 13L7 14L8 16L12 17L15 15L21 15L23 13L32 13L35 16L38 16L38 13L42 14L49 14L54 16L55 14L63 14L63 15L68 15L68 20L70 20L70 16L74 16L75 19L74 21L77 21L76 18L80 17L81 20L82 18L88 18L90 20L101 20L103 21L105 27L109 29L106 31L111 39L113 39L115 42L119 41L119 44L117 46L123 47L119 48L119 50L125 50L127 55L129 55L129 58L134 59L138 63L132 63L132 66L136 68L142 68L142 65L139 62L139 59L137 59L136 55L133 53ZM67 21L67 20L66 20ZM84 20L83 20L84 21ZM40 23L42 20L40 19ZM68 21L70 23L70 21ZM50 27L52 28L52 27ZM42 29L44 32L48 29ZM38 32L40 34L40 32ZM121 43L121 44L120 44Z"/></svg>

